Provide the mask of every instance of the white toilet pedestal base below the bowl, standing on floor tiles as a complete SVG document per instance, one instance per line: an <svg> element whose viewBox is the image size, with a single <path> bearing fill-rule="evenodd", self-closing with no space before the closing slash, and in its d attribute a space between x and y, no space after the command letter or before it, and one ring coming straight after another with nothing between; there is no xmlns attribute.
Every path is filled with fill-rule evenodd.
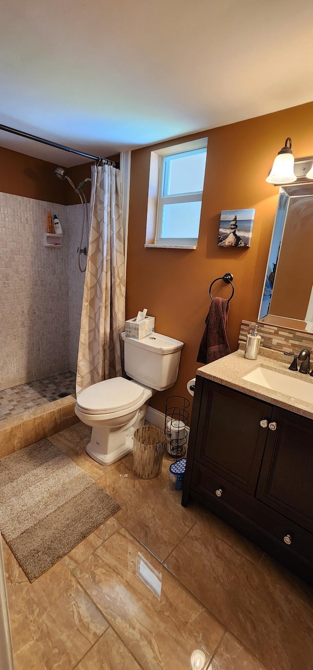
<svg viewBox="0 0 313 670"><path fill-rule="evenodd" d="M111 465L133 451L133 434L145 423L148 403L136 411L135 416L119 427L97 426L92 428L86 452L101 465Z"/></svg>

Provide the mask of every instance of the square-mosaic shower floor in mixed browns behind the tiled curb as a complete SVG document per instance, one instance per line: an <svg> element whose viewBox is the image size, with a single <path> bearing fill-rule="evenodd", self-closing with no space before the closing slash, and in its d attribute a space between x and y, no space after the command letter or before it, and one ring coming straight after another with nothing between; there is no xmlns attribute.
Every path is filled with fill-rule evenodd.
<svg viewBox="0 0 313 670"><path fill-rule="evenodd" d="M58 400L60 393L74 395L75 373L58 373L0 391L0 421L33 407Z"/></svg>

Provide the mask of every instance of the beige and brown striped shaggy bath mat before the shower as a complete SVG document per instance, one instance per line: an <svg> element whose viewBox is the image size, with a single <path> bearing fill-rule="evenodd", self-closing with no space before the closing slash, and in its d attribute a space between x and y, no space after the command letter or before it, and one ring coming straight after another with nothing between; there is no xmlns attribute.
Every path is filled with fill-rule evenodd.
<svg viewBox="0 0 313 670"><path fill-rule="evenodd" d="M0 529L29 582L119 509L49 440L0 460Z"/></svg>

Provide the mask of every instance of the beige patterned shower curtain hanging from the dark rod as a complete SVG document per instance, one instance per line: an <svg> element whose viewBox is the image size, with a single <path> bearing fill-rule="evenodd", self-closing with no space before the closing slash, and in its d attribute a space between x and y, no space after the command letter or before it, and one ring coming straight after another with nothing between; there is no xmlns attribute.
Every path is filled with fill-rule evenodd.
<svg viewBox="0 0 313 670"><path fill-rule="evenodd" d="M122 376L120 334L125 328L125 247L121 174L92 165L90 241L82 299L76 393Z"/></svg>

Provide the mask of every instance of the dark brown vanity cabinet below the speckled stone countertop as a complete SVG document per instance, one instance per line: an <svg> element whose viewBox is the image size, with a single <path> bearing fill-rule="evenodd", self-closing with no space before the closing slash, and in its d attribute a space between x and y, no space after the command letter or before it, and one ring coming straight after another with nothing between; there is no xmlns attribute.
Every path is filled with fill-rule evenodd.
<svg viewBox="0 0 313 670"><path fill-rule="evenodd" d="M190 496L313 584L313 421L197 376Z"/></svg>

